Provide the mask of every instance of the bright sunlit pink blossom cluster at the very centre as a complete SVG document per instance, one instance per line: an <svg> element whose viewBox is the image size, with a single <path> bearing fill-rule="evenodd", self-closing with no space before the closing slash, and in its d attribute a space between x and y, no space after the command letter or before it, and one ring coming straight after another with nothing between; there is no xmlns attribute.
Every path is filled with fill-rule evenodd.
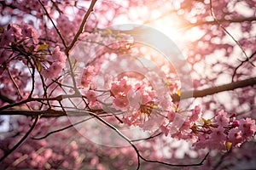
<svg viewBox="0 0 256 170"><path fill-rule="evenodd" d="M110 93L113 107L124 111L123 121L128 125L143 125L154 106L154 89L146 80L137 81L123 77L111 83Z"/></svg>

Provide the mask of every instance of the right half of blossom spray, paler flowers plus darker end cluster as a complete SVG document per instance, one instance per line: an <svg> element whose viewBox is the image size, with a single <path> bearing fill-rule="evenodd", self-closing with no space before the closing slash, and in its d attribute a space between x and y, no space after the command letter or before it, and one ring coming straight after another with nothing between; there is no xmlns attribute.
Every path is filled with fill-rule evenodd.
<svg viewBox="0 0 256 170"><path fill-rule="evenodd" d="M177 126L179 125L179 126ZM251 118L236 119L236 114L218 111L212 119L204 119L201 107L196 105L190 114L183 116L182 111L172 111L168 121L160 127L166 135L175 139L189 139L197 149L230 150L251 140L256 132L255 121Z"/></svg>

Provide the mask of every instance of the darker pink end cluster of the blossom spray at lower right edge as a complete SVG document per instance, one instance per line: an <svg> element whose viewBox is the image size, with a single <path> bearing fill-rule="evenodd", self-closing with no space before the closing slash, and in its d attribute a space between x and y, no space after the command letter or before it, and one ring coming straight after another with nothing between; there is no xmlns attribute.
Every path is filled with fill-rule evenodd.
<svg viewBox="0 0 256 170"><path fill-rule="evenodd" d="M252 139L256 132L255 121L251 118L236 120L236 114L228 116L224 111L218 111L212 120L201 120L191 128L197 139L194 145L198 149L230 150L231 146L240 146Z"/></svg>

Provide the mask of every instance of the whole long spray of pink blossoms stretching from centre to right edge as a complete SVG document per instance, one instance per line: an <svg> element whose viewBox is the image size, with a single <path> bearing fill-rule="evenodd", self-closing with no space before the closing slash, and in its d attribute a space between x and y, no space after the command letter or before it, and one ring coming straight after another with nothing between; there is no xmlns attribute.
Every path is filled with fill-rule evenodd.
<svg viewBox="0 0 256 170"><path fill-rule="evenodd" d="M81 82L84 88L90 88L92 77L96 75L93 68L91 65L84 68ZM95 105L102 108L102 105L107 105L104 102L108 101L110 107L122 112L121 120L128 126L138 126L149 131L160 130L174 139L192 141L197 149L230 150L231 146L239 147L253 139L256 132L255 121L251 118L237 120L236 114L229 116L227 112L218 111L212 119L205 119L200 105L191 110L179 109L167 94L161 97L156 94L146 79L138 81L122 77L113 80L108 94L103 95L105 98L96 91L90 88L85 92L91 108ZM176 94L178 92L179 89Z"/></svg>

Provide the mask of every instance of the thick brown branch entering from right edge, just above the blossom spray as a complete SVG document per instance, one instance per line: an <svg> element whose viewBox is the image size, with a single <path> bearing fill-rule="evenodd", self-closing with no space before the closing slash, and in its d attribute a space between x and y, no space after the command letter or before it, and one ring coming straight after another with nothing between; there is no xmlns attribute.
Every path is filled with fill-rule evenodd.
<svg viewBox="0 0 256 170"><path fill-rule="evenodd" d="M181 94L181 97L179 97L177 94L175 94L175 95L172 95L172 100L179 101L180 99L200 98L200 97L205 97L207 95L218 94L220 92L234 90L236 88L244 88L247 86L253 86L255 84L256 84L256 77L253 77L253 78L248 78L246 80L241 80L241 81L237 81L237 82L230 82L228 84L220 85L217 87L184 92ZM192 94L192 96L191 96L191 94Z"/></svg>

